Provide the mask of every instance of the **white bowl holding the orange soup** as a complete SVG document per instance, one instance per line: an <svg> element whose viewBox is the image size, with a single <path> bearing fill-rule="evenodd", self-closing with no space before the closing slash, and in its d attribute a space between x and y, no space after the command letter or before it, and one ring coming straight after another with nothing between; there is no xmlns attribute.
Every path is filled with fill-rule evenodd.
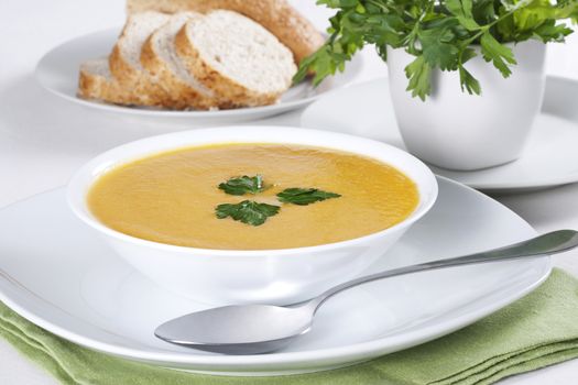
<svg viewBox="0 0 578 385"><path fill-rule="evenodd" d="M103 173L127 162L209 143L285 143L366 155L405 173L419 191L417 208L402 222L366 237L309 248L235 251L183 248L112 230L89 211L86 195ZM363 170L360 169L360 173ZM68 184L72 210L139 272L159 285L204 302L286 305L346 282L381 257L434 205L437 183L421 161L388 144L327 131L284 127L226 127L148 138L112 148L83 166Z"/></svg>

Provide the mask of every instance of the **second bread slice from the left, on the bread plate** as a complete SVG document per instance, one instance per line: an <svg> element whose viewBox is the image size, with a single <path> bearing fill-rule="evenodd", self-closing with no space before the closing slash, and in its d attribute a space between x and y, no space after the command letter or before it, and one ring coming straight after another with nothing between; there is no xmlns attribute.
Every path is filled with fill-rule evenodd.
<svg viewBox="0 0 578 385"><path fill-rule="evenodd" d="M139 105L163 106L167 98L156 79L142 67L141 50L146 38L170 19L171 15L161 12L130 15L109 56L112 76L131 90Z"/></svg>

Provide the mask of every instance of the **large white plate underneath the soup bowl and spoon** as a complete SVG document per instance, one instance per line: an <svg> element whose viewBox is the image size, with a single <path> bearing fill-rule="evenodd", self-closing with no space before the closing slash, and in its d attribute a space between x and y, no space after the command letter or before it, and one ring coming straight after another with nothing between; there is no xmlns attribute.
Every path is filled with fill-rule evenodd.
<svg viewBox="0 0 578 385"><path fill-rule="evenodd" d="M439 198L364 274L517 242L535 235L487 196L439 179ZM287 349L219 355L157 340L160 323L206 308L134 272L69 211L64 189L0 211L0 299L81 345L157 365L218 374L328 370L410 348L462 328L537 287L548 256L433 271L345 292ZM313 294L312 294L313 295Z"/></svg>

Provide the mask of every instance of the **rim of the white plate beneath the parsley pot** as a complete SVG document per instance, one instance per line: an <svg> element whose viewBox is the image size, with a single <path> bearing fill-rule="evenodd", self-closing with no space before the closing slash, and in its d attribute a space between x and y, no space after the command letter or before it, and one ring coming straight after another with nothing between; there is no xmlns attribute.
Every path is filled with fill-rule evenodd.
<svg viewBox="0 0 578 385"><path fill-rule="evenodd" d="M389 77L381 76L381 77L378 77L378 78L374 78L374 79L371 79L371 80L357 82L357 84L352 85L352 87L367 87L367 86L370 86L371 84L377 82L377 81L385 81L389 85ZM561 75L546 75L546 87L547 87L548 82L552 84L553 81L563 84L565 87L574 87L576 89L576 92L578 92L578 79L574 79L574 78L570 78L570 77L567 77L567 76L561 76ZM553 116L553 117L560 118L560 119L564 119L564 120L569 120L568 118L560 117L559 114L556 114L556 113L554 113L552 111L544 111L543 108L544 108L544 103L546 101L546 97L547 97L547 95L545 94L544 95L544 101L543 101L543 105L542 105L542 108L541 108L542 114ZM319 102L319 101L321 101L321 100L314 101L312 105L309 105L303 111L303 113L301 116L301 119L299 119L299 127L312 128L308 124L303 124L304 117L306 117L307 111L309 109L313 110L315 105L317 102ZM578 103L577 103L577 108L578 108ZM578 130L578 128L577 128L577 130ZM422 162L424 162L424 161L422 161ZM515 161L513 161L513 162L515 162ZM523 183L510 183L509 180L493 182L493 183L461 182L459 179L455 179L455 177L456 177L455 175L446 175L446 174L439 174L439 173L450 172L450 173L457 173L457 174L461 173L461 174L469 174L469 175L471 175L471 174L476 174L476 173L479 173L479 172L486 172L486 170L491 169L491 168L499 168L499 167L502 167L502 166L508 166L512 162L509 162L509 163L506 163L504 165L499 165L499 166L495 166L495 167L483 168L483 169L479 169L479 170L469 170L469 172L444 169L441 167L434 166L434 165L432 165L432 164L429 164L427 162L424 162L424 163L426 163L427 166L432 167L433 172L436 175L438 175L438 176L444 176L445 178L459 182L459 183L461 183L461 184L464 184L464 185L466 185L468 187L471 187L471 188L475 188L475 189L480 189L480 190L488 191L488 193L508 193L508 191L521 191L521 190L538 190L538 189L544 189L544 188L549 188L549 187L557 187L557 186L568 185L568 184L574 184L574 183L578 182L578 169L576 172L568 173L568 174L565 174L565 175L560 175L560 176L556 176L556 177L549 177L549 178L543 178L543 179L541 179L538 182L531 182L531 180L523 182Z"/></svg>

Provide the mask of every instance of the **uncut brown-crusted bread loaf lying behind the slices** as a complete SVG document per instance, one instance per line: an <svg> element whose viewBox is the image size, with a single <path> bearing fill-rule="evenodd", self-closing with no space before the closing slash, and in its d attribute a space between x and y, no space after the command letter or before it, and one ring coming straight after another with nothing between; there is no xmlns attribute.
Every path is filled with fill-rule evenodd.
<svg viewBox="0 0 578 385"><path fill-rule="evenodd" d="M227 9L257 21L286 45L299 63L324 44L324 36L287 0L127 0L129 14L157 11L208 12Z"/></svg>

